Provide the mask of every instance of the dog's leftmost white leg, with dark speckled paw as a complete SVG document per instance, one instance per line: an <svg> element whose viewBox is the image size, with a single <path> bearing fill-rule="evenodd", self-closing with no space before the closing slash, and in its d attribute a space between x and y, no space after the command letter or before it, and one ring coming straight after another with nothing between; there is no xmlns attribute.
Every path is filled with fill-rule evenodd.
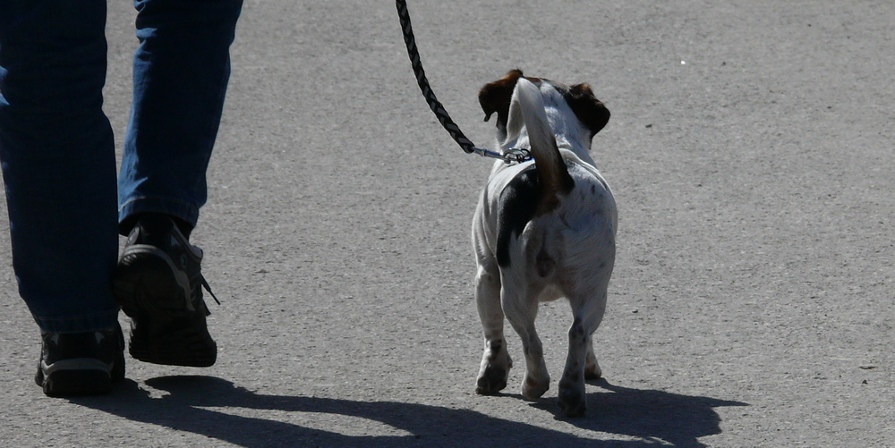
<svg viewBox="0 0 895 448"><path fill-rule="evenodd" d="M487 395L498 393L507 387L507 377L513 361L509 357L503 332L504 313L500 308L499 273L493 264L485 262L482 265L475 275L475 302L482 320L485 352L479 376L475 380L475 393Z"/></svg>

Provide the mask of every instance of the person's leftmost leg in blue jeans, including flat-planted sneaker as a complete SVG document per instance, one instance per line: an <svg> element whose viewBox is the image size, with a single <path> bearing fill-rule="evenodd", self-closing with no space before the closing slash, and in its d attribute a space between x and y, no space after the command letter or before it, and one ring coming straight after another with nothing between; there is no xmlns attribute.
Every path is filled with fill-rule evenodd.
<svg viewBox="0 0 895 448"><path fill-rule="evenodd" d="M0 2L13 270L44 335L38 384L49 394L103 392L110 375L124 377L110 287L118 241L105 25L105 0ZM98 346L96 334L111 342Z"/></svg>

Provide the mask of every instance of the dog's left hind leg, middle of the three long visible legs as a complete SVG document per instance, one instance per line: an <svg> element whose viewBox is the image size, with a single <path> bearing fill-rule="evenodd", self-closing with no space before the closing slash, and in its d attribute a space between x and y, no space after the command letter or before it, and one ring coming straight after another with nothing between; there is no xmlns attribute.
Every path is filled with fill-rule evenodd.
<svg viewBox="0 0 895 448"><path fill-rule="evenodd" d="M504 282L501 291L501 303L507 320L522 339L525 353L525 379L522 382L522 395L534 400L550 389L550 373L544 362L544 351L541 338L534 328L534 319L538 316L538 293L533 292L518 280Z"/></svg>

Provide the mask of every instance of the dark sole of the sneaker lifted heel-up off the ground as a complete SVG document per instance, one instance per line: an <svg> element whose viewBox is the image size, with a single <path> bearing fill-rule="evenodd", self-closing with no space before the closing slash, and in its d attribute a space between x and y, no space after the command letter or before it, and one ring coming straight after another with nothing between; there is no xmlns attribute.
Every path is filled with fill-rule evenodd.
<svg viewBox="0 0 895 448"><path fill-rule="evenodd" d="M153 246L125 249L113 282L115 299L132 318L129 352L134 359L167 366L204 368L217 360L217 344L201 310L192 306L189 280Z"/></svg>

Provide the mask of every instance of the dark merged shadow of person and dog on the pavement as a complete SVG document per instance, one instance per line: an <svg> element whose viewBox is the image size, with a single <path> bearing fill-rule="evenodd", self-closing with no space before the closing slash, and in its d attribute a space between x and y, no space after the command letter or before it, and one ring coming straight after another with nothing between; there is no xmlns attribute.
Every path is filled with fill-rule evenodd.
<svg viewBox="0 0 895 448"><path fill-rule="evenodd" d="M474 410L455 410L406 402L354 402L319 397L253 393L212 376L163 376L146 381L168 394L152 398L132 380L110 395L74 398L72 402L133 421L170 427L248 447L260 446L703 446L703 435L720 434L720 417L712 408L746 406L707 397L644 391L596 383L606 392L592 393L586 418L568 418L577 427L628 435L634 441L582 437L523 422L494 418ZM515 396L504 398L516 400ZM485 398L482 398L485 400ZM524 403L520 400L520 403ZM555 400L529 403L556 413ZM218 411L221 408L226 411ZM310 412L366 418L401 435L345 435L267 418L234 415L245 410ZM339 418L337 418L339 417ZM563 418L565 419L565 418ZM354 431L348 431L353 433Z"/></svg>

